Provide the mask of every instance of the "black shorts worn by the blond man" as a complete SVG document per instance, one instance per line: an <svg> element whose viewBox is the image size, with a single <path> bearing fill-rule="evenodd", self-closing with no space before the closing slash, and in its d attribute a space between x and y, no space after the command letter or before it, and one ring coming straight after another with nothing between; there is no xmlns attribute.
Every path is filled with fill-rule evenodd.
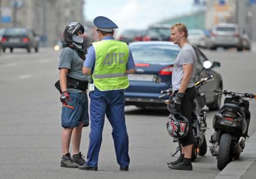
<svg viewBox="0 0 256 179"><path fill-rule="evenodd" d="M192 126L192 105L196 95L195 86L187 88L185 93L186 94L182 98L182 102L181 102L181 113L183 116L187 118L187 120L189 120L189 132L187 133L186 136L184 136L184 138L179 139L180 144L182 146L194 144L195 142L193 130L191 127Z"/></svg>

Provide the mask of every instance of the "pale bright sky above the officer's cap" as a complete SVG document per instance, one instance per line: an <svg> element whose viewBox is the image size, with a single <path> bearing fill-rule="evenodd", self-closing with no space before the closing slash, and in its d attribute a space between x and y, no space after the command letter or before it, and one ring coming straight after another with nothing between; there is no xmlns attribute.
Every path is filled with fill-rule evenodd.
<svg viewBox="0 0 256 179"><path fill-rule="evenodd" d="M119 29L145 29L148 25L195 10L194 0L85 0L85 19L105 16Z"/></svg>

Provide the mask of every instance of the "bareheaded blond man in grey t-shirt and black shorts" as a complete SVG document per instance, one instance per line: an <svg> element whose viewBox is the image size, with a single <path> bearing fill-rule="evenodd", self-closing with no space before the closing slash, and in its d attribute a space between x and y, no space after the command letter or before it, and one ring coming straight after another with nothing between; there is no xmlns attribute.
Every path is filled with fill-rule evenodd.
<svg viewBox="0 0 256 179"><path fill-rule="evenodd" d="M187 43L187 28L182 23L171 26L171 39L181 49L174 62L172 71L172 114L181 114L192 125L192 103L194 101L196 90L194 84L195 71L197 69L197 56L192 45ZM171 169L192 170L191 155L194 145L194 136L192 128L186 136L179 139L182 152L177 160L168 162Z"/></svg>

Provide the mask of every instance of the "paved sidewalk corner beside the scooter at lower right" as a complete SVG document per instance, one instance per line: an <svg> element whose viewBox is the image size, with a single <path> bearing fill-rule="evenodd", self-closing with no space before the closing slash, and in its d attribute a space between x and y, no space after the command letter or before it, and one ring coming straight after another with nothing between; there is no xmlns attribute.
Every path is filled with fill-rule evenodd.
<svg viewBox="0 0 256 179"><path fill-rule="evenodd" d="M215 179L256 178L256 132L245 142L245 149L238 160L230 162Z"/></svg>

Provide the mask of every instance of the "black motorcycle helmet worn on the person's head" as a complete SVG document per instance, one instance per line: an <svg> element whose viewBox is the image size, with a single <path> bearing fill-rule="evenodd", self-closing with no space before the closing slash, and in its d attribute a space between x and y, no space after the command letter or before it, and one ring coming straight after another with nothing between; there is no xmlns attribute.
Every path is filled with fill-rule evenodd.
<svg viewBox="0 0 256 179"><path fill-rule="evenodd" d="M69 24L67 24L63 35L64 35L64 41L67 44L72 44L72 36L76 33L78 33L79 31L82 32L82 34L84 34L85 29L84 26L79 23L79 22L70 22Z"/></svg>

